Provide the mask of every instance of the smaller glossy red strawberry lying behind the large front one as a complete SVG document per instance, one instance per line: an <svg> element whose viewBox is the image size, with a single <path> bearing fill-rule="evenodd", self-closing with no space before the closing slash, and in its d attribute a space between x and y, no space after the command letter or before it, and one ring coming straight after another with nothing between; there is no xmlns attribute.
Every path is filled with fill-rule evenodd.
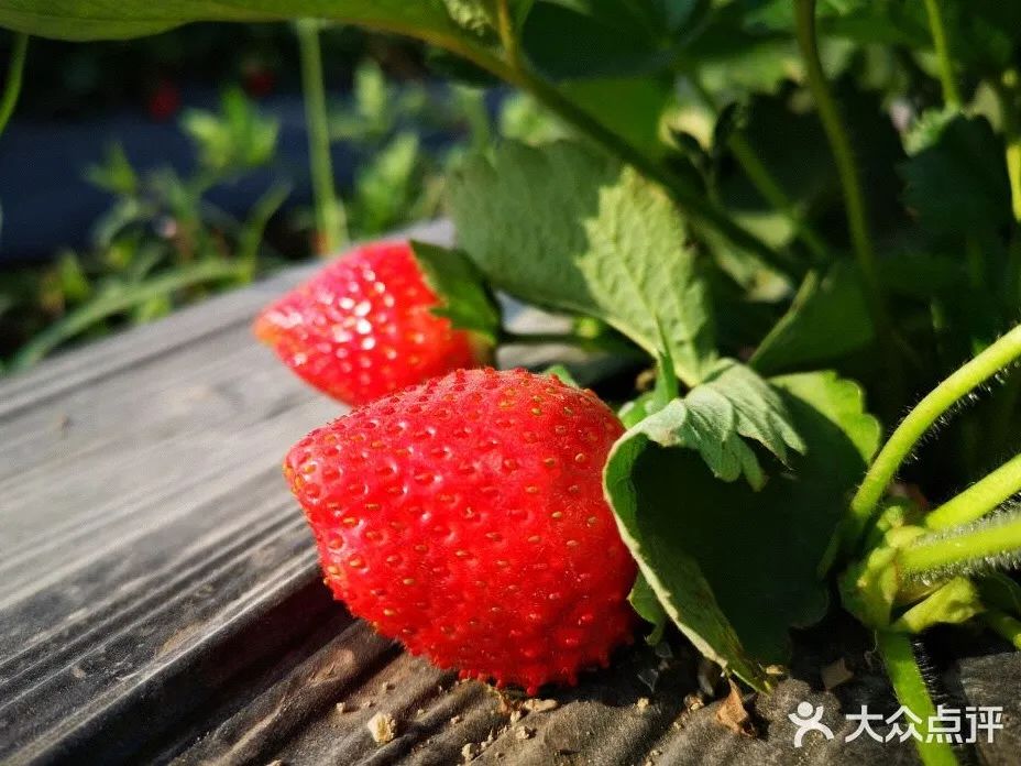
<svg viewBox="0 0 1021 766"><path fill-rule="evenodd" d="M348 404L473 366L469 333L430 310L407 242L352 250L266 307L254 332L307 383Z"/></svg>

